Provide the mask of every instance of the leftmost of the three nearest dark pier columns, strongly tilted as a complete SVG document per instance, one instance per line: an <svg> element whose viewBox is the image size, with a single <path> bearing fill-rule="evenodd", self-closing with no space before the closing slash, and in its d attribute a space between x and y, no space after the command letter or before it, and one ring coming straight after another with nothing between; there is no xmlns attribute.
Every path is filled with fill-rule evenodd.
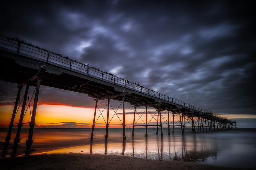
<svg viewBox="0 0 256 170"><path fill-rule="evenodd" d="M8 145L9 145L9 141L11 140L11 131L12 131L12 127L14 126L13 123L14 123L14 118L15 118L16 112L17 112L17 106L18 106L19 99L20 99L20 91L21 91L21 89L22 89L22 87L19 86L18 87L17 97L16 97L15 104L14 104L14 108L13 108L13 112L12 112L12 115L11 115L11 121L10 121L10 124L9 124L8 133L7 133L7 136L5 137L4 152L7 151L7 148L8 148Z"/></svg>

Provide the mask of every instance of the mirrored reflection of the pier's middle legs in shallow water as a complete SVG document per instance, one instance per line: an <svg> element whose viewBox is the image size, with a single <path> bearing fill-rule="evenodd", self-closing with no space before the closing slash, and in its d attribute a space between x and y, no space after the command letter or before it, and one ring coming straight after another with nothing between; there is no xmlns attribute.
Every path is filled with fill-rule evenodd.
<svg viewBox="0 0 256 170"><path fill-rule="evenodd" d="M217 158L217 150L214 149L215 143L204 143L203 140L199 141L195 136L173 136L161 138L156 136L155 139L145 137L136 139L132 137L129 142L119 141L109 143L105 140L102 143L103 147L99 144L93 143L91 139L90 152L91 154L122 154L132 157L145 157L153 159L164 160L182 160L187 162L201 162L210 158ZM200 143L201 142L201 143ZM143 145L142 145L143 143ZM199 143L199 145L198 145ZM97 146L97 147L94 147ZM138 146L139 145L139 146ZM101 146L101 145L100 145Z"/></svg>

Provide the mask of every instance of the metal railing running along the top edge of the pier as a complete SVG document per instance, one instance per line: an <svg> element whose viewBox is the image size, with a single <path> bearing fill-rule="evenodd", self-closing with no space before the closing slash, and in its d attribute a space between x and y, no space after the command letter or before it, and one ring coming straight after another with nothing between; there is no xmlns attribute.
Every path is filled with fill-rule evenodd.
<svg viewBox="0 0 256 170"><path fill-rule="evenodd" d="M180 106L185 106L187 108L194 109L199 112L207 113L215 117L224 119L219 115L212 114L212 112L209 110L203 110L196 106L177 100L173 97L169 97L164 94L158 93L154 90L151 90L149 88L143 87L139 85L139 83L133 83L123 78L120 78L118 76L115 76L112 73L103 72L99 69L96 69L95 67L89 66L89 64L83 64L76 60L70 59L69 57L64 57L61 54L50 52L46 49L40 48L38 46L34 46L31 43L26 43L23 40L20 40L19 38L9 38L9 37L0 35L0 44L2 47L16 51L17 54L23 53L25 55L29 55L28 57L31 57L31 58L33 57L40 58L43 60L43 62L46 62L49 64L54 64L59 67L76 71L78 73L82 73L84 75L94 77L105 82L110 82L115 85L120 85L122 87L131 89L143 94L147 94L149 96L153 96L164 101L175 103ZM40 67L43 67L43 66L40 66Z"/></svg>

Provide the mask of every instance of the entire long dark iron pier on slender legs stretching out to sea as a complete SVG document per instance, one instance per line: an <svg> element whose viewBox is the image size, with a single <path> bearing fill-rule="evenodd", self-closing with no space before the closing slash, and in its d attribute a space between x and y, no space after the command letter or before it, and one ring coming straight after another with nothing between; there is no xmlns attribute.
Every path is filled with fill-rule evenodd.
<svg viewBox="0 0 256 170"><path fill-rule="evenodd" d="M8 134L5 139L4 152L6 152L11 139L14 118L19 112L18 128L14 138L14 151L18 147L23 118L29 111L31 121L29 123L30 130L26 141L27 154L31 151L33 130L36 125L35 118L40 85L75 91L94 98L95 112L91 138L93 138L94 127L99 125L97 124L98 119L96 119L96 113L99 111L99 117L103 118L104 125L106 126L105 139L108 139L108 127L113 125L110 124L113 117L109 119L109 110L112 108L115 112L113 116L118 117L116 113L117 109L111 106L110 100L120 101L120 106L122 105L122 118L118 117L121 123L115 125L123 127L123 140L126 140L125 102L130 103L134 107L133 128L137 126L135 123L135 116L137 115L136 108L145 107L145 124L143 126L146 128L146 136L148 126L156 126L157 133L158 127L160 127L161 137L163 137L163 126L168 126L169 134L170 126L172 128L180 126L182 133L184 133L185 127L188 124L192 126L194 132L195 127L198 127L200 130L211 131L233 129L236 126L235 121L229 121L226 118L212 114L211 111L206 111L168 97L145 88L138 83L114 76L112 73L102 72L95 67L89 66L89 64L85 65L68 57L63 57L60 54L49 52L30 43L25 43L18 38L1 36L0 44L1 69L2 73L5 73L0 75L0 79L6 82L16 83L18 88ZM25 86L24 95L20 100L21 90ZM32 95L29 95L29 88L31 86L35 87L35 90ZM98 102L105 99L107 99L107 105L105 107L107 108L106 118L102 115L103 111L98 108ZM33 103L32 112L30 109L31 102ZM148 107L156 109L157 112L149 112ZM164 112L167 113L165 114ZM172 121L170 121L171 114L173 116ZM151 119L148 120L149 115ZM141 116L140 119L142 119Z"/></svg>

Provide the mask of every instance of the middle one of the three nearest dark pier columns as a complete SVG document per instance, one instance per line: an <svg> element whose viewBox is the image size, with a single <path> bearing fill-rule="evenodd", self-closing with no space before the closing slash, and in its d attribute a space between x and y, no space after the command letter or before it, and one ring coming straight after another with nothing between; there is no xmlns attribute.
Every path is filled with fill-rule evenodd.
<svg viewBox="0 0 256 170"><path fill-rule="evenodd" d="M20 131L21 131L21 127L23 126L22 122L23 122L24 112L26 109L28 89L29 89L29 83L27 83L27 85L26 85L26 90L25 90L22 108L21 108L21 112L20 112L20 120L19 120L19 123L17 124L18 128L17 128L16 136L14 138L14 149L16 149L18 147L18 143L20 142Z"/></svg>

